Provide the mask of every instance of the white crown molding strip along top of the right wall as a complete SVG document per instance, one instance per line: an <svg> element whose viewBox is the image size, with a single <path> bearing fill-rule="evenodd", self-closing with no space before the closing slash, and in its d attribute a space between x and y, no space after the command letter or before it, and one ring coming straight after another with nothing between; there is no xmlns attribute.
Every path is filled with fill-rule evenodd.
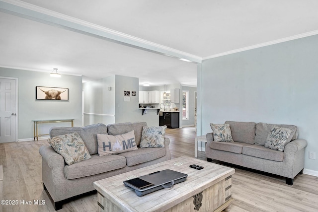
<svg viewBox="0 0 318 212"><path fill-rule="evenodd" d="M296 40L296 39L299 39L299 38L305 38L305 37L309 37L309 36L317 35L317 34L318 34L318 30L311 31L311 32L306 32L306 33L302 33L302 34L299 34L299 35L294 35L294 36L290 36L290 37L286 37L286 38L282 38L282 39L277 39L277 40L273 40L273 41L269 41L269 42L265 42L265 43L261 43L261 44L256 44L256 45L253 45L253 46L248 46L248 47L244 47L244 48L240 48L240 49L231 50L231 51L228 51L228 52L223 52L223 53L216 54L216 55L211 55L211 56L202 58L202 61L203 60L208 60L208 59L211 59L211 58L217 58L217 57L225 56L225 55L231 55L231 54L234 54L234 53L243 52L243 51L247 51L247 50L251 50L251 49L257 49L257 48L264 47L264 46L269 46L269 45L273 45L273 44L283 43L283 42L286 42L286 41Z"/></svg>

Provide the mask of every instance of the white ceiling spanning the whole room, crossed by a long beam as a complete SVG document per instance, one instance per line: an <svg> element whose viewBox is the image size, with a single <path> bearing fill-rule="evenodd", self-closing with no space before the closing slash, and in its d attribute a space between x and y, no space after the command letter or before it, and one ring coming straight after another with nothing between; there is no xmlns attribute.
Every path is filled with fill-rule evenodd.
<svg viewBox="0 0 318 212"><path fill-rule="evenodd" d="M317 0L0 0L0 66L196 86L202 59L318 34L317 8Z"/></svg>

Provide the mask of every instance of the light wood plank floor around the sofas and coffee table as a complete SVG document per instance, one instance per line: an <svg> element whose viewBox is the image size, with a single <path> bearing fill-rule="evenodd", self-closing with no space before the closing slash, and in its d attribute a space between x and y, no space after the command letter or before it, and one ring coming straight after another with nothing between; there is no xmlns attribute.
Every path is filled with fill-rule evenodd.
<svg viewBox="0 0 318 212"><path fill-rule="evenodd" d="M167 129L172 158L194 157L194 128ZM3 212L54 212L42 186L39 147L47 141L25 141L0 144L0 165L3 166L3 200L17 200L18 205L0 205ZM204 152L198 158L206 160ZM223 164L222 162L216 161ZM232 166L230 164L223 164ZM256 171L236 169L232 178L231 212L318 212L318 177L298 175L294 185L285 178ZM45 201L34 205L34 201ZM23 205L31 201L31 205ZM27 202L24 202L26 204ZM59 212L96 212L97 194L90 194L63 205Z"/></svg>

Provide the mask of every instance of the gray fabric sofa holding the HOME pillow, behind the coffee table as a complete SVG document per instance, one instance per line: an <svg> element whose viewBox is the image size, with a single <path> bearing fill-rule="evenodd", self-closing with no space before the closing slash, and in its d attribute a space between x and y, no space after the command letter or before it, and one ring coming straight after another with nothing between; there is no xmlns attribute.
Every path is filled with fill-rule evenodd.
<svg viewBox="0 0 318 212"><path fill-rule="evenodd" d="M120 154L98 155L97 134L119 135L134 130L135 141L139 147L144 126L147 126L146 122L51 128L51 138L77 132L91 155L91 159L67 165L64 158L51 146L40 147L43 186L51 196L55 210L62 209L62 205L69 201L69 198L95 190L94 181L171 159L168 138L164 138L164 147L138 148Z"/></svg>

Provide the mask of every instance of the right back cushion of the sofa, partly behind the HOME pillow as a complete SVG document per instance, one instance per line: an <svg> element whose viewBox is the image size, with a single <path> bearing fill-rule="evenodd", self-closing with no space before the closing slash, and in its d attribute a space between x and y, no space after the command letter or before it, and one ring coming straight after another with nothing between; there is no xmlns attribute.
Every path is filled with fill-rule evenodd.
<svg viewBox="0 0 318 212"><path fill-rule="evenodd" d="M135 141L137 146L139 146L141 141L141 135L143 133L143 127L147 127L146 122L127 122L127 123L120 123L120 124L111 124L107 125L107 132L109 135L119 135L128 133L130 131L135 132Z"/></svg>

